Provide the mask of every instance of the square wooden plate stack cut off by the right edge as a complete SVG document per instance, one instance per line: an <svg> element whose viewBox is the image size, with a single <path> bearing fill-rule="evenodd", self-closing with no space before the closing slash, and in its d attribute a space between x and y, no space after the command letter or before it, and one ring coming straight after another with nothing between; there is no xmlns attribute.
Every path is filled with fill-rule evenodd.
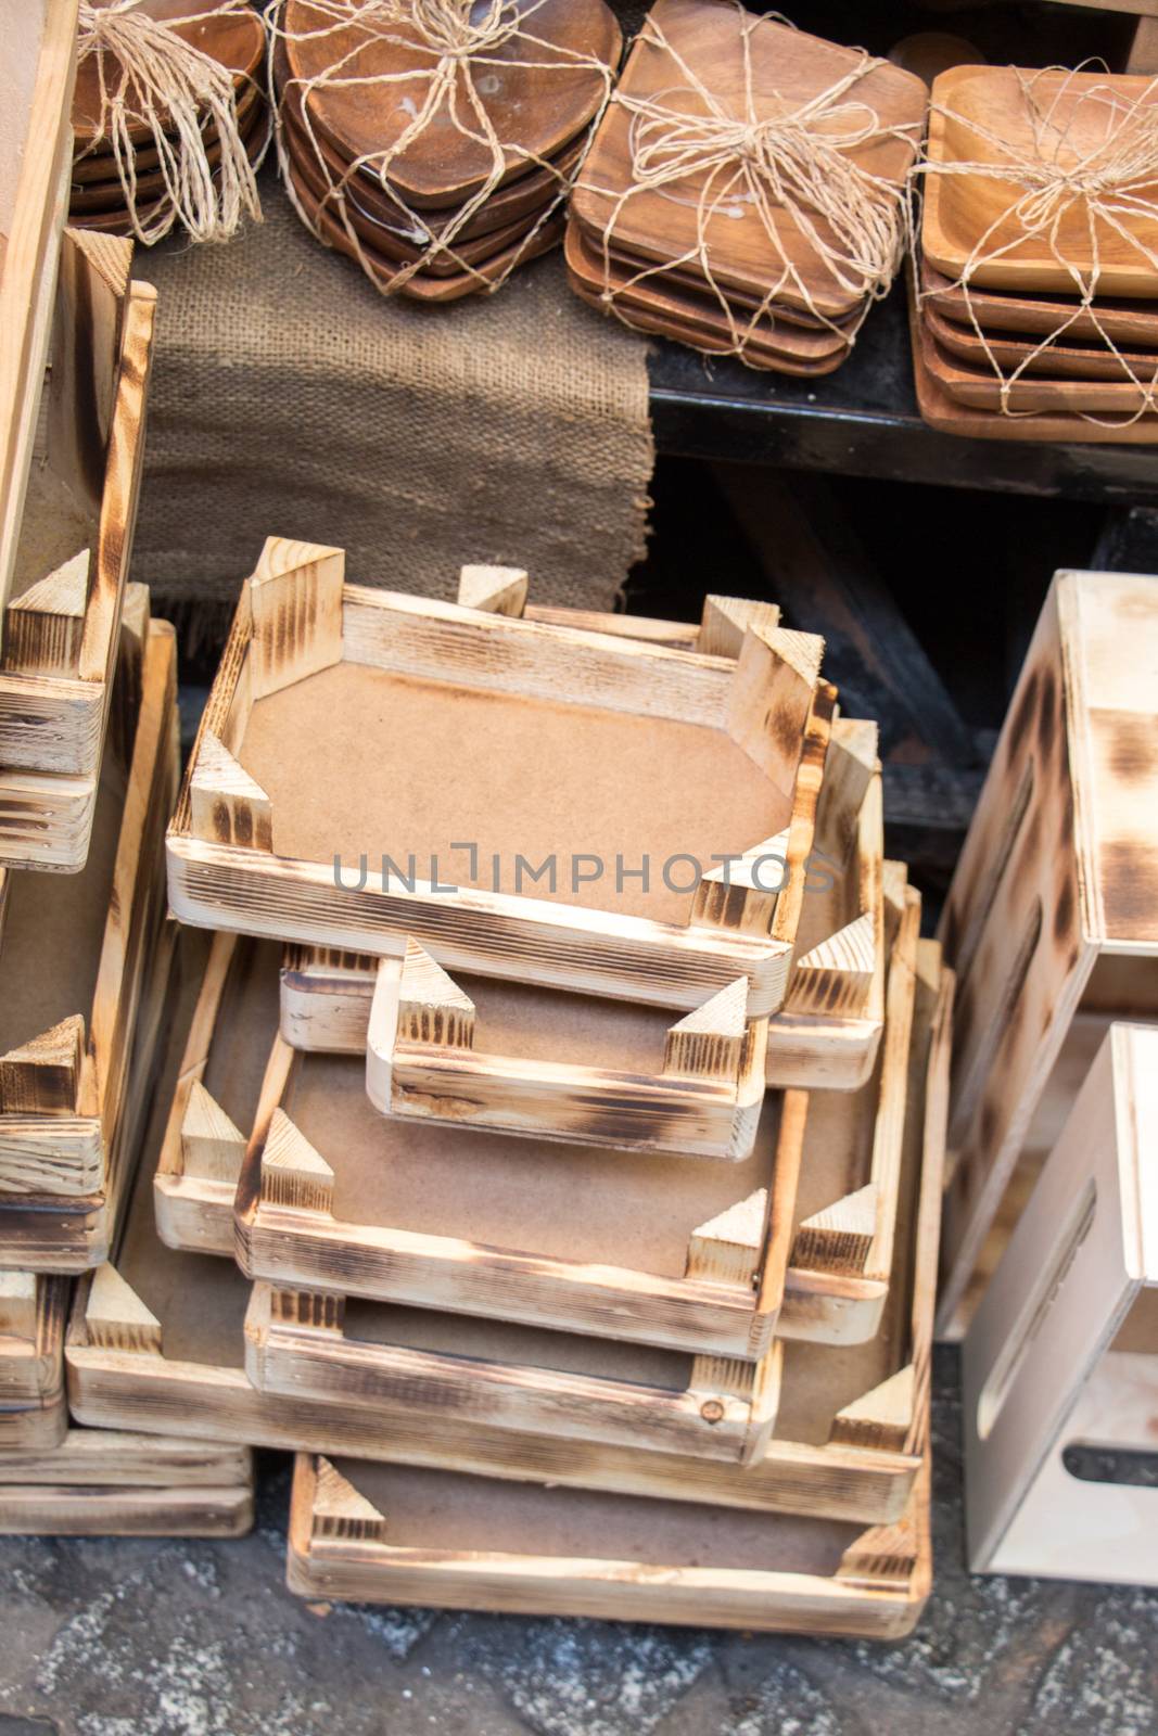
<svg viewBox="0 0 1158 1736"><path fill-rule="evenodd" d="M932 87L929 161L1073 170L1141 97L1158 104L1153 80L953 68ZM995 439L1158 441L1148 396L1158 385L1158 168L1118 194L1113 222L1075 200L1050 238L1017 215L1024 175L925 175L913 302L925 422Z"/></svg>

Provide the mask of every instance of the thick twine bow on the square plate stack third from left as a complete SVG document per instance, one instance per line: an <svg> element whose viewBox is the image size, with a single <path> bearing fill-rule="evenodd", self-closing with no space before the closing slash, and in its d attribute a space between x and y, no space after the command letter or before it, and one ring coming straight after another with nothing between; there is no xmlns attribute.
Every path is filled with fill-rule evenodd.
<svg viewBox="0 0 1158 1736"><path fill-rule="evenodd" d="M825 90L795 108L767 113L776 101L757 90L752 36L780 14L755 17L736 0L743 92L729 108L679 54L667 33L649 16L641 38L663 50L679 73L679 83L653 97L618 90L613 104L630 116L630 184L613 196L602 231L604 306L630 325L630 312L618 299L649 276L693 266L708 285L727 321L731 352L748 359L748 347L760 328L776 328L776 304L788 299L804 307L819 328L839 333L851 347L868 307L889 292L911 234L911 205L905 177L873 175L854 161L854 153L880 139L906 139L913 149L920 123L885 127L877 111L856 97L859 82L884 62L866 52ZM609 196L606 187L587 182L589 191ZM693 245L675 259L644 267L625 283L611 285L611 248L625 207L641 194L660 193L694 203ZM774 267L759 307L736 314L733 300L715 276L714 245L720 215L752 210L769 243ZM790 240L802 236L802 262L792 257ZM863 300L858 318L837 323L818 304L816 266L823 267L828 295ZM719 345L714 345L719 352Z"/></svg>

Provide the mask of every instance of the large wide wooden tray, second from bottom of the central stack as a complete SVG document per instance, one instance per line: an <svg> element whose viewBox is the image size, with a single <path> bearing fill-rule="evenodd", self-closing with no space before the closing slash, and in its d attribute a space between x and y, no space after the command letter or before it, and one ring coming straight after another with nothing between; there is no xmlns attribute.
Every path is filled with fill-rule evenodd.
<svg viewBox="0 0 1158 1736"><path fill-rule="evenodd" d="M214 977L210 962L207 981ZM220 983L220 977L215 981ZM245 1017L247 1007L253 1005L238 984L226 984L224 995L233 998L240 1017ZM203 995L193 1012L193 1036L201 1012ZM191 1047L196 1047L193 1038L186 1043L186 1055ZM375 1314L399 1319L406 1311L375 1309L365 1304L342 1305L333 1297L307 1299L306 1304L299 1304L297 1299L274 1299L266 1285L253 1286L250 1293L231 1260L170 1252L160 1243L151 1212L153 1160L167 1139L167 1123L172 1130L172 1115L165 1113L167 1090L177 1088L179 1080L184 1085L184 1059L179 1059L174 1049L167 1085L156 1097L146 1161L141 1165L137 1194L116 1267L104 1267L78 1290L66 1345L73 1413L92 1425L156 1429L161 1434L172 1430L174 1418L179 1417L182 1429L208 1439L262 1446L297 1443L330 1455L446 1465L483 1476L646 1493L681 1502L712 1502L757 1512L804 1509L813 1516L832 1519L892 1522L903 1512L925 1450L944 1142L943 1068L944 1049L931 1045L925 1031L913 1042L910 1052L911 1088L903 1191L906 1205L896 1240L896 1285L880 1333L872 1347L856 1351L819 1351L811 1345L806 1351L802 1345L788 1345L783 1351L790 1373L790 1382L781 1389L786 1394L785 1410L764 1453L745 1465L738 1458L722 1460L703 1451L672 1451L644 1444L644 1411L653 1408L655 1415L663 1406L661 1396L655 1391L635 1394L639 1418L635 1444L583 1439L582 1425L578 1434L571 1429L566 1437L535 1436L519 1427L495 1425L477 1410L457 1413L450 1404L438 1406L438 1427L431 1427L431 1410L424 1406L417 1382L408 1382L394 1404L380 1403L370 1389L363 1391L358 1403L351 1403L345 1389L342 1396L325 1399L297 1387L286 1394L259 1392L241 1368L243 1344L250 1368L257 1373L271 1347L280 1354L309 1351L311 1333L326 1330L332 1342L340 1342L337 1326L342 1321L342 1309L347 1326L354 1326L358 1318L366 1319ZM229 1083L236 1088L243 1078L245 1068L238 1068ZM219 1088L222 1080L224 1076L217 1073ZM252 1094L259 1090L252 1076L248 1088ZM925 1179L920 1205L915 1208L915 1170L922 1163L922 1151ZM319 1312L311 1316L311 1309ZM295 1330L286 1316L299 1319L300 1330ZM332 1326L309 1328L306 1323L309 1318L328 1318ZM613 1370L627 1371L632 1366L639 1370L646 1364L655 1380L656 1366L663 1363L670 1385L670 1370L677 1366L677 1359L670 1354L641 1352L630 1344L595 1340L575 1344L559 1333L497 1328L491 1323L429 1316L425 1330L448 1335L448 1342L455 1344L465 1344L469 1335L479 1342L488 1338L491 1359L497 1333L507 1351L516 1342L521 1345L530 1368L528 1380L540 1382L540 1394L535 1396L528 1387L528 1392L519 1396L514 1380L507 1382L505 1371L491 1370L493 1378L486 1387L488 1408L493 1403L493 1387L507 1382L507 1420L517 1418L519 1404L524 1406L523 1415L526 1406L533 1406L540 1420L543 1418L550 1377L542 1364L549 1361L550 1351L569 1361L571 1377L583 1371L583 1363L589 1370L602 1368L608 1375ZM540 1349L533 1349L536 1344ZM799 1378L792 1375L793 1358L800 1363ZM691 1358L682 1361L688 1370L684 1385L689 1387L694 1378L693 1361ZM710 1392L705 1389L701 1403L712 1396L727 1397L727 1385L720 1382L729 1377L738 1380L743 1375L734 1364L729 1368L701 1361L696 1368L715 1382ZM271 1371L269 1361L266 1371ZM288 1373L285 1366L281 1371ZM865 1389L875 1380L878 1391L866 1394ZM589 1377L578 1384L590 1396L590 1387L597 1382ZM615 1382L606 1378L604 1385L611 1392ZM622 1427L630 1422L628 1397L628 1387L623 1385L616 1394ZM833 1427L837 1411L844 1415ZM604 1408L599 1425L606 1424L608 1415ZM592 1417L594 1411L589 1410L589 1424ZM795 1432L802 1436L799 1443L785 1432L785 1425L793 1424L793 1418ZM707 1434L712 1425L703 1417L700 1422L705 1424ZM686 1434L694 1439L691 1420ZM811 1444L813 1441L816 1444Z"/></svg>

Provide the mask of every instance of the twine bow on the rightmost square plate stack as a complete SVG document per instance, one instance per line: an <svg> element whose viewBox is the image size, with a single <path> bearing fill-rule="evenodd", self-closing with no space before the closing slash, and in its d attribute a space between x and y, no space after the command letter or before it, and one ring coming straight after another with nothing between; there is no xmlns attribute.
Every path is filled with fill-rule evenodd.
<svg viewBox="0 0 1158 1736"><path fill-rule="evenodd" d="M1071 80L1085 71L1083 66L1068 73L1064 68L1054 66L1031 75L1019 68L1010 68L1010 71L1017 78L1030 122L1031 148L1019 149L983 122L934 104L934 113L967 128L977 139L984 139L998 153L998 160L988 163L925 160L915 168L915 174L920 175L965 175L998 181L1017 189L1009 205L977 238L953 288L964 290L969 325L1000 384L1002 415L1042 415L1036 410L1014 408L1016 385L1026 373L1035 372L1036 363L1049 356L1050 349L1061 344L1075 321L1082 321L1094 328L1108 354L1122 368L1122 384L1130 384L1137 391L1137 408L1132 415L1106 418L1082 411L1082 418L1099 427L1130 427L1139 417L1158 410L1158 363L1149 377L1139 375L1106 330L1097 307L1097 290L1104 273L1106 233L1122 241L1127 255L1135 253L1158 274L1158 252L1132 227L1132 222L1139 220L1158 222L1158 104L1155 102L1158 78L1151 80L1134 101L1125 101L1113 85L1094 85L1080 92L1069 106ZM1059 73L1064 75L1061 85L1052 99L1043 102L1040 82ZM1069 116L1061 123L1057 115L1064 113L1068 106ZM1106 111L1109 125L1099 144L1080 153L1075 144L1075 130L1082 111L1089 108ZM1071 220L1075 214L1082 219L1082 255L1083 260L1089 259L1089 264L1071 259L1063 241L1063 224ZM998 241L997 236L1003 229L1012 229L1012 236ZM1073 311L1061 319L1057 328L1035 344L1007 373L981 326L970 283L986 266L1035 240L1045 245L1059 271L1073 281L1076 299Z"/></svg>

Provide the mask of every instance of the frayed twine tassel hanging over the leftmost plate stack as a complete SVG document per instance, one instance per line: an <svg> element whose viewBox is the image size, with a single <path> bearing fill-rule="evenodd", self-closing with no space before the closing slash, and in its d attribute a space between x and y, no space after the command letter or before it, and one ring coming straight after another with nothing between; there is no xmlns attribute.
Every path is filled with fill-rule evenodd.
<svg viewBox="0 0 1158 1736"><path fill-rule="evenodd" d="M182 24L248 12L245 0L224 0ZM170 23L139 10L139 0L109 5L80 3L78 61L95 57L101 115L92 144L109 137L125 194L132 233L142 243L158 241L181 222L194 241L226 241L243 217L260 217L257 182L238 132L233 73L220 61L186 42ZM158 155L167 198L137 196L137 149L132 128L146 125ZM220 142L220 161L208 161L205 130Z"/></svg>

